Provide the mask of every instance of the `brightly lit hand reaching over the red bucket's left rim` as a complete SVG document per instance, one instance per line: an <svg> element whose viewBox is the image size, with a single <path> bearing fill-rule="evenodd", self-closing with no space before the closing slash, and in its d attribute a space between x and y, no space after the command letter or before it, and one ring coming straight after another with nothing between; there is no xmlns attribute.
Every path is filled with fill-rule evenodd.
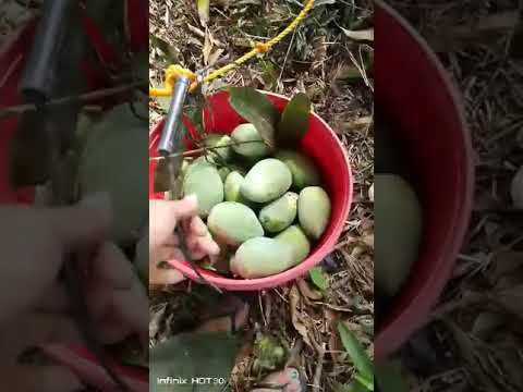
<svg viewBox="0 0 523 392"><path fill-rule="evenodd" d="M190 256L194 260L220 253L218 244L210 236L207 226L197 216L197 198L190 195L181 200L149 201L149 283L175 284L183 275L175 269L159 268L163 260L183 260L179 238L173 234L178 224L182 225Z"/></svg>

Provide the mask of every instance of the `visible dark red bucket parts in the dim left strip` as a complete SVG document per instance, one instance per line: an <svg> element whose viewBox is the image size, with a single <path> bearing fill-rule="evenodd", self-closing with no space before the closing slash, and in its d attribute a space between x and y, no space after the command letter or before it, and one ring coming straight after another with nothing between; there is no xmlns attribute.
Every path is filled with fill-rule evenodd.
<svg viewBox="0 0 523 392"><path fill-rule="evenodd" d="M136 1L139 2L141 0L133 0L132 3L139 5ZM126 17L130 20L130 28L135 32L130 39L131 50L144 48L143 37L146 35L147 26L145 25L144 29L144 23L138 22L141 17L143 19L144 15L147 15L144 7L145 4L142 2L142 9L135 7L132 11L127 10ZM138 12L138 15L135 14L136 12ZM27 59L27 50L31 48L35 34L36 23L37 19L32 20L27 25L13 34L11 39L0 48L0 108L20 105L22 101L17 88ZM89 42L98 53L100 61L114 65L118 56L113 49L104 41L104 37L95 23L86 16L84 16L83 23ZM143 33L138 33L138 29L142 29ZM82 71L89 90L108 86L109 77L99 64L84 61ZM113 102L113 100L104 100L99 103L109 108L115 102ZM34 188L14 191L9 181L8 151L19 120L19 117L0 119L0 205L32 204L34 201ZM78 378L89 385L102 391L111 390L111 385L113 385L112 381L96 358L85 347L51 345L45 346L42 350L54 360L72 369ZM149 390L148 371L127 366L114 366L114 368L133 392L146 392Z"/></svg>

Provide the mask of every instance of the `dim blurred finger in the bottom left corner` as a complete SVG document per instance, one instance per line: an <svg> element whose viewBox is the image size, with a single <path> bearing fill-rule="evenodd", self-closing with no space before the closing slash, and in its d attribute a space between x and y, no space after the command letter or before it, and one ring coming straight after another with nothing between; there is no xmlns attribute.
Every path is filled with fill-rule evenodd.
<svg viewBox="0 0 523 392"><path fill-rule="evenodd" d="M62 366L10 366L0 370L2 390L17 392L74 392L80 379Z"/></svg>

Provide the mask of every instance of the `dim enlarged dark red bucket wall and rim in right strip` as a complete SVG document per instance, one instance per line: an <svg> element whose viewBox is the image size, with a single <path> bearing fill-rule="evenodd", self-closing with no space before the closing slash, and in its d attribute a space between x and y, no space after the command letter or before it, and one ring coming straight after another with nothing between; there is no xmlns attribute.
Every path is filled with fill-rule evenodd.
<svg viewBox="0 0 523 392"><path fill-rule="evenodd" d="M469 226L471 138L461 100L436 54L389 5L376 1L376 106L405 140L424 208L419 259L377 331L375 357L398 350L427 319Z"/></svg>

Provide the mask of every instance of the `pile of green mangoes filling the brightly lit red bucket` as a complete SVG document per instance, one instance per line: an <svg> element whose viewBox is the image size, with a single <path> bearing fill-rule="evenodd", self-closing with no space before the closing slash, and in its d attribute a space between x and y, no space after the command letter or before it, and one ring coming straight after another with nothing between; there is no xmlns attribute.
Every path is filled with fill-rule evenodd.
<svg viewBox="0 0 523 392"><path fill-rule="evenodd" d="M229 272L264 278L303 261L331 213L314 161L269 148L251 123L231 135L211 134L204 144L205 155L184 160L180 181L184 196L198 198L198 215Z"/></svg>

